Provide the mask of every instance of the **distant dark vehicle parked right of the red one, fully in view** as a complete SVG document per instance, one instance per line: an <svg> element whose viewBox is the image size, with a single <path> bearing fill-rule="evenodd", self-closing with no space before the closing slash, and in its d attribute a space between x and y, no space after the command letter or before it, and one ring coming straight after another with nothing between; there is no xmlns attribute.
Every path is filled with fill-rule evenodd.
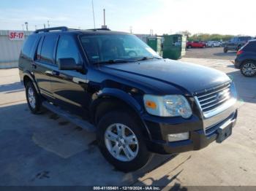
<svg viewBox="0 0 256 191"><path fill-rule="evenodd" d="M229 42L225 44L223 52L227 52L229 50L239 50L246 42L252 39L252 36L236 36L230 39Z"/></svg>

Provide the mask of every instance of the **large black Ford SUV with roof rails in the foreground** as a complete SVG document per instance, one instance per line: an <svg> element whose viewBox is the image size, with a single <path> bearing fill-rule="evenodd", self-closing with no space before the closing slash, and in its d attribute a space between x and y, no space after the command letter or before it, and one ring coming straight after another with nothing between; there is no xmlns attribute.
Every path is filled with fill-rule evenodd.
<svg viewBox="0 0 256 191"><path fill-rule="evenodd" d="M42 106L97 133L102 155L121 171L151 152L206 147L230 136L236 88L226 74L163 59L132 34L40 29L19 59L29 109Z"/></svg>

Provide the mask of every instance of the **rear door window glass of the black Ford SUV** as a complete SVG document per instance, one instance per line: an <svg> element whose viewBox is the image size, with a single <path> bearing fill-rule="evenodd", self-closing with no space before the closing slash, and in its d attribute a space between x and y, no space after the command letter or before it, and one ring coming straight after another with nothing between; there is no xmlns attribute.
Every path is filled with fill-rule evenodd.
<svg viewBox="0 0 256 191"><path fill-rule="evenodd" d="M41 61L45 61L47 63L53 63L53 53L54 47L56 44L57 34L50 34L45 36L44 41L42 42L42 50L41 50Z"/></svg>

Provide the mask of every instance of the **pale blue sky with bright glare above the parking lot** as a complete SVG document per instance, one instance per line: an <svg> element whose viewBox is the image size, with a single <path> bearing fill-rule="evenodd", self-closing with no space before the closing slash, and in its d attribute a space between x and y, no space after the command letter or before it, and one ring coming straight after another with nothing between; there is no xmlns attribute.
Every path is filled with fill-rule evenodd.
<svg viewBox="0 0 256 191"><path fill-rule="evenodd" d="M254 0L94 0L96 26L103 23L116 31L170 34L188 30L192 33L256 35ZM1 0L0 29L42 28L50 26L93 28L91 0Z"/></svg>

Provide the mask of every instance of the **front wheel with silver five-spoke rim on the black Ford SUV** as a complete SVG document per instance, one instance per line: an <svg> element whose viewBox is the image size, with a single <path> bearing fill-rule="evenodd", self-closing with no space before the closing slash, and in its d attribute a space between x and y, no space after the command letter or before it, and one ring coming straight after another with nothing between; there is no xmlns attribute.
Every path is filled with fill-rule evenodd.
<svg viewBox="0 0 256 191"><path fill-rule="evenodd" d="M140 122L123 111L105 114L97 125L97 141L102 155L118 170L142 168L151 159L140 132Z"/></svg>

